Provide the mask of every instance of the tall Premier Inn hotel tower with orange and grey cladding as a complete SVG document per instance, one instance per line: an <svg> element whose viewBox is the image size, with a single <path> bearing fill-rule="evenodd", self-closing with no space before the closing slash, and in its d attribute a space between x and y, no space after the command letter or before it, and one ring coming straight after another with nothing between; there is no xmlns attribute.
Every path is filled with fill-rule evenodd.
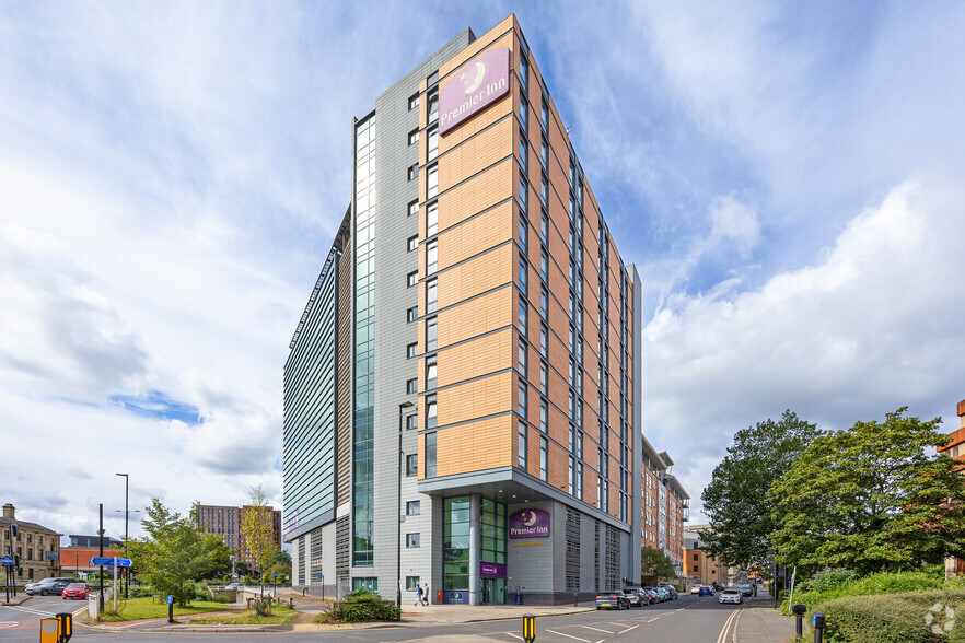
<svg viewBox="0 0 965 643"><path fill-rule="evenodd" d="M515 17L419 65L352 142L284 367L294 584L477 605L638 582L639 278Z"/></svg>

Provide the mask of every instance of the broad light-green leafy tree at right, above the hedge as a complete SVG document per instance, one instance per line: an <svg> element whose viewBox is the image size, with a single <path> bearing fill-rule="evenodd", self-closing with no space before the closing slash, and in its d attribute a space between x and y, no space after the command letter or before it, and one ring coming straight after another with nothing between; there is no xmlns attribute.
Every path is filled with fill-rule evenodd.
<svg viewBox="0 0 965 643"><path fill-rule="evenodd" d="M906 410L815 439L774 486L779 562L867 574L965 554L963 478L932 453L949 436Z"/></svg>

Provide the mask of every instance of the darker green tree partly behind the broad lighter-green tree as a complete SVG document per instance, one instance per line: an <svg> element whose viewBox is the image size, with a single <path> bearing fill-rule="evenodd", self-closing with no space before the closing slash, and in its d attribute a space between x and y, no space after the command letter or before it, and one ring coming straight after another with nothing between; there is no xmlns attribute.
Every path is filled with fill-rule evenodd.
<svg viewBox="0 0 965 643"><path fill-rule="evenodd" d="M710 529L704 549L725 566L767 568L770 534L777 528L774 501L767 492L821 432L786 410L734 435L723 461L704 490L704 513Z"/></svg>

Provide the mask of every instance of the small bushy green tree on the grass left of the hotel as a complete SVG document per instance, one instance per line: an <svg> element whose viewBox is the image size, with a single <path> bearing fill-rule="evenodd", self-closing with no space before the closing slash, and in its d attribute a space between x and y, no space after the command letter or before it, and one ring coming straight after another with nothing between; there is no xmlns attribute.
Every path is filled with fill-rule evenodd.
<svg viewBox="0 0 965 643"><path fill-rule="evenodd" d="M156 498L146 507L141 527L146 538L125 541L133 569L159 594L172 595L182 607L195 597L195 582L223 574L230 552L221 538L199 527L198 503L188 517L171 513Z"/></svg>

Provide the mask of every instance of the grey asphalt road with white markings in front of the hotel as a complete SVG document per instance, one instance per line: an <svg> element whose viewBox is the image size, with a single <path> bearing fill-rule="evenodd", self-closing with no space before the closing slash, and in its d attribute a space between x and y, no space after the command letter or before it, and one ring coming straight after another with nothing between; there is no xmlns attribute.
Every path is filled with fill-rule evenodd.
<svg viewBox="0 0 965 643"><path fill-rule="evenodd" d="M36 643L39 639L39 619L65 608L84 609L80 601L72 605L59 598L34 598L23 606L0 606L0 642ZM742 608L719 605L716 596L681 596L679 600L623 611L590 611L586 613L540 617L536 619L537 643L613 643L617 641L660 641L661 643L730 642L730 631ZM519 643L522 638L520 620L484 621L447 626L384 627L365 630L328 632L286 632L254 634L214 633L153 633L100 632L75 628L71 642L118 643L188 643L213 639L232 642L272 640L278 643L318 641L321 643L396 643L433 636L463 638L475 634L493 641ZM455 639L454 639L455 640Z"/></svg>

